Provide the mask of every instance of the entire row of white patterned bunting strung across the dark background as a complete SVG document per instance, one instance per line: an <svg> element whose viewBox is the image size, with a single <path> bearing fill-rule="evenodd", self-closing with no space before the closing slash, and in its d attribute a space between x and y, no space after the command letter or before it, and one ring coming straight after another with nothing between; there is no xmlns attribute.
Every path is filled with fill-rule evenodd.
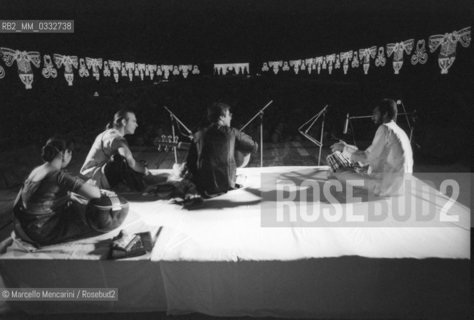
<svg viewBox="0 0 474 320"><path fill-rule="evenodd" d="M344 75L348 74L349 68L357 69L362 65L364 74L368 74L371 64L377 68L385 67L387 60L392 59L394 74L399 74L405 58L408 58L413 66L426 64L428 53L438 53L438 65L441 74L447 74L456 59L458 43L467 48L471 43L471 27L466 27L445 34L436 34L425 39L403 40L388 43L385 46L373 45L368 48L349 50L305 59L276 60L261 62L261 67L256 69L257 74L321 74L327 70L333 74L335 70L341 70ZM429 49L429 51L428 51ZM150 80L168 81L172 79L188 79L201 74L200 67L196 64L186 65L159 65L136 63L129 61L108 60L103 58L80 58L78 56L62 54L41 54L38 51L20 51L0 47L0 60L6 67L13 67L16 62L18 76L26 89L31 89L34 80L33 67L39 69L46 79L55 79L63 69L63 76L69 86L74 83L75 73L80 78L93 77L99 81L101 77L113 77L116 83L121 78L133 81L138 78L144 81ZM42 58L42 59L41 59ZM228 75L250 75L250 63L224 63L214 64L213 74L215 76ZM6 76L5 69L0 65L0 79Z"/></svg>

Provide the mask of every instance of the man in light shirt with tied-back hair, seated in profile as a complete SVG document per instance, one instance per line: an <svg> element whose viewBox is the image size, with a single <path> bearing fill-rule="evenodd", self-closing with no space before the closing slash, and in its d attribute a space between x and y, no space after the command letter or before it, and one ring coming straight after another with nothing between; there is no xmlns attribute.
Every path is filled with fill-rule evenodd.
<svg viewBox="0 0 474 320"><path fill-rule="evenodd" d="M134 134L138 127L132 111L120 110L100 133L82 165L80 173L101 189L125 187L132 191L143 191L143 178L150 174L144 163L132 155L125 135ZM121 186L119 186L122 184Z"/></svg>

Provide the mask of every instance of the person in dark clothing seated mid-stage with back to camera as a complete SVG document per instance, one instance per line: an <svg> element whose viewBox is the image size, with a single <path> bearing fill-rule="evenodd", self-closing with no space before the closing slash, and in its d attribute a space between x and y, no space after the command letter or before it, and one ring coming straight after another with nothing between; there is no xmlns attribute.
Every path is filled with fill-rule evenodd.
<svg viewBox="0 0 474 320"><path fill-rule="evenodd" d="M214 103L208 109L211 125L194 134L187 167L203 197L212 197L236 188L235 150L255 152L258 144L232 128L230 106Z"/></svg>

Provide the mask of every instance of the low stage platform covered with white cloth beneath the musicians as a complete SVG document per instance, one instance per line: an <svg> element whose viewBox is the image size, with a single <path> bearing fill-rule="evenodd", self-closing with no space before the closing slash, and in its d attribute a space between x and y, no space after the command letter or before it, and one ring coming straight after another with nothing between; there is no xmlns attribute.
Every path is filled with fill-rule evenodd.
<svg viewBox="0 0 474 320"><path fill-rule="evenodd" d="M457 202L447 212L459 217L457 222L431 226L266 226L265 219L274 214L268 208L276 205L269 181L324 184L323 169L242 169L245 188L191 211L166 201L132 201L122 228L159 231L153 251L142 257L104 260L108 239L119 230L34 252L7 239L0 255L7 287L119 289L116 302L9 302L7 307L35 314L166 311L331 318L468 311L470 210ZM437 211L437 216L449 199L433 188L426 190L413 191L404 201L416 198L426 204L420 210ZM318 200L308 202L319 203L321 210L334 206ZM341 206L362 215L373 208L394 214L392 206L383 205L387 201Z"/></svg>

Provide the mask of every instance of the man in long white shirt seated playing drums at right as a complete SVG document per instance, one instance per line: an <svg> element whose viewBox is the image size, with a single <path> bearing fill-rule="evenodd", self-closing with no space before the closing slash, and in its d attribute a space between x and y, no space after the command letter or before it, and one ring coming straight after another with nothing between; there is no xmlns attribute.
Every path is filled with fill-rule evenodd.
<svg viewBox="0 0 474 320"><path fill-rule="evenodd" d="M413 151L410 140L396 124L397 104L391 99L383 99L374 108L372 120L378 125L372 144L367 150L359 150L344 141L331 146L350 156L350 160L369 166L368 173L357 173L353 169L335 172L335 177L344 183L363 183L363 188L377 196L399 195L404 177L413 172Z"/></svg>

